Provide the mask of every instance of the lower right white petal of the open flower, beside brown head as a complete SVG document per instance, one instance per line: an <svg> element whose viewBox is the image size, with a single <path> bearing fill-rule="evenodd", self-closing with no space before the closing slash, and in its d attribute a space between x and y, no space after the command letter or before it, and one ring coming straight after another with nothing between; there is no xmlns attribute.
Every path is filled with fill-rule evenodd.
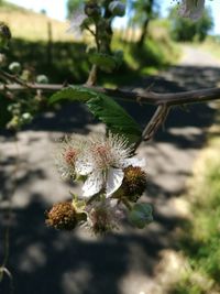
<svg viewBox="0 0 220 294"><path fill-rule="evenodd" d="M111 196L122 184L124 173L120 168L110 167L107 175L107 197Z"/></svg>

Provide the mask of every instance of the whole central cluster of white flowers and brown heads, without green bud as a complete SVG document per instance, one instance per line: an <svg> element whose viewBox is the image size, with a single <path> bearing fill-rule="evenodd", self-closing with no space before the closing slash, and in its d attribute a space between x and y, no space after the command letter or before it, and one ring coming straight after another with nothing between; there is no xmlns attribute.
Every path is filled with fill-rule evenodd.
<svg viewBox="0 0 220 294"><path fill-rule="evenodd" d="M70 203L55 205L46 222L68 230L86 224L101 235L117 228L121 208L136 203L146 187L145 161L132 156L132 152L128 140L113 133L62 140L55 156L58 172L63 178L82 181L82 193L74 207ZM84 219L77 217L79 211Z"/></svg>

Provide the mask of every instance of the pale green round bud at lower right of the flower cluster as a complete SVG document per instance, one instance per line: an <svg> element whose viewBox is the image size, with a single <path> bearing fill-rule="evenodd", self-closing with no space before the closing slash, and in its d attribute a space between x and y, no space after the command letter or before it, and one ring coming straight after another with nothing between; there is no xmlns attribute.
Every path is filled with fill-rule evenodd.
<svg viewBox="0 0 220 294"><path fill-rule="evenodd" d="M143 229L153 221L152 206L146 203L135 204L129 214L129 221L136 228Z"/></svg>

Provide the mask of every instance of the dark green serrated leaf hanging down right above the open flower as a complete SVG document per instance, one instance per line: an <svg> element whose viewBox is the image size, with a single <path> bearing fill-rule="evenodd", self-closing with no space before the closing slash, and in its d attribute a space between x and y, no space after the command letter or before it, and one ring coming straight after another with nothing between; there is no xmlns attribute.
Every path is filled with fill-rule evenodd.
<svg viewBox="0 0 220 294"><path fill-rule="evenodd" d="M141 130L133 118L112 98L100 95L86 104L91 113L107 124L112 132L124 134L130 143L140 139Z"/></svg>

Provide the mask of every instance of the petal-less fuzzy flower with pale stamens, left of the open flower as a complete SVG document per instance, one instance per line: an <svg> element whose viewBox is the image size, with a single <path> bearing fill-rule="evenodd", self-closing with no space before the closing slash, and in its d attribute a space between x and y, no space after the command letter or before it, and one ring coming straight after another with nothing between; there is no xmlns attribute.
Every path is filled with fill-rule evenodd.
<svg viewBox="0 0 220 294"><path fill-rule="evenodd" d="M77 165L86 152L86 141L79 135L65 137L55 154L55 164L63 178L74 178Z"/></svg>

